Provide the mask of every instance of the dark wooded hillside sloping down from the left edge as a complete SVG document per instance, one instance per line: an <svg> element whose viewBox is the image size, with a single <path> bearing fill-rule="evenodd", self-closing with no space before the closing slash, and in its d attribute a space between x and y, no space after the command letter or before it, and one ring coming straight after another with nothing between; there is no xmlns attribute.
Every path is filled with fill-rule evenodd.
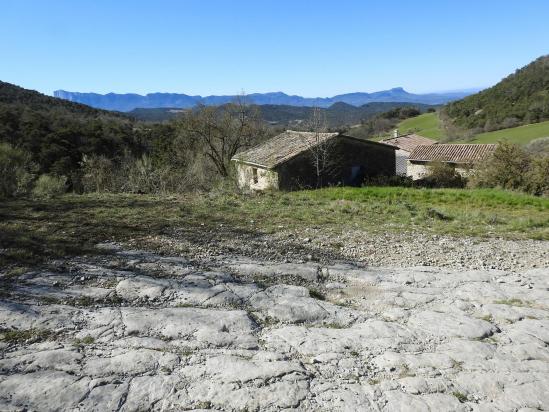
<svg viewBox="0 0 549 412"><path fill-rule="evenodd" d="M122 114L0 82L0 142L30 153L38 173L70 177L84 154L139 153L147 133Z"/></svg>

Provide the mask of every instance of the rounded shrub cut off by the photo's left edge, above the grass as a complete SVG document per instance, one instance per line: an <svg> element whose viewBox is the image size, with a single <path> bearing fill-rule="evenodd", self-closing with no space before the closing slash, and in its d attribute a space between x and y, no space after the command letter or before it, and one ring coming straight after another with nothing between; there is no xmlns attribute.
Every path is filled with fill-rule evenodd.
<svg viewBox="0 0 549 412"><path fill-rule="evenodd" d="M13 197L30 190L36 165L29 153L0 143L0 197Z"/></svg>

